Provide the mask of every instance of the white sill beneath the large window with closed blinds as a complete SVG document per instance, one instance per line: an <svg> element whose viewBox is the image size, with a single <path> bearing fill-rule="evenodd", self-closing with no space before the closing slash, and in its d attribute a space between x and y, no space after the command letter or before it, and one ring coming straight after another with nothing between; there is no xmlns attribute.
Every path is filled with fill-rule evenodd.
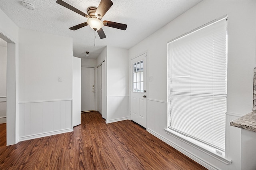
<svg viewBox="0 0 256 170"><path fill-rule="evenodd" d="M223 162L224 164L231 164L232 163L232 160L228 160L227 158L225 158L225 153L223 152L223 154L218 154L216 152L216 148L213 148L211 146L208 146L207 144L204 144L202 142L199 142L193 138L190 138L188 136L184 136L178 132L175 132L173 130L170 130L170 129L167 129L165 128L164 129L165 132L171 136L174 136L180 140L182 140L183 142L189 144L190 146L193 146L199 150L201 150L202 152L208 154L209 156L212 156L213 158L216 158L217 160L220 160L221 162ZM222 152L222 151L221 151Z"/></svg>

